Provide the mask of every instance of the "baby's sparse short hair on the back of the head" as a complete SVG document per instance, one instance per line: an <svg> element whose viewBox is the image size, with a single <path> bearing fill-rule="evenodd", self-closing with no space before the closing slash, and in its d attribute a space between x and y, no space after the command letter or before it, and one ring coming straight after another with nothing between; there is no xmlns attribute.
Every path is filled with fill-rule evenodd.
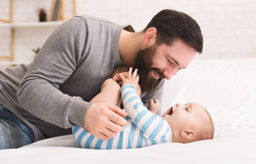
<svg viewBox="0 0 256 164"><path fill-rule="evenodd" d="M199 125L200 127L197 128L195 141L213 138L214 125L212 122L212 118L206 109L205 109L205 112L206 112L208 118L201 121L201 124Z"/></svg>

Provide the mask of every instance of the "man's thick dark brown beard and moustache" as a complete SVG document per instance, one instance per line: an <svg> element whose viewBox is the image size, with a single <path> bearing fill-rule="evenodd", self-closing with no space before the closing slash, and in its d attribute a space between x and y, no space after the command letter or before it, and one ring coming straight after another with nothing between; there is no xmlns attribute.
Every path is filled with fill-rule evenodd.
<svg viewBox="0 0 256 164"><path fill-rule="evenodd" d="M142 92L151 93L159 85L164 74L159 70L159 68L152 68L153 58L157 49L157 45L151 45L148 48L139 50L135 58L135 63L133 68L138 69L138 74L140 76L138 83L141 86ZM151 71L156 71L159 78L148 77Z"/></svg>

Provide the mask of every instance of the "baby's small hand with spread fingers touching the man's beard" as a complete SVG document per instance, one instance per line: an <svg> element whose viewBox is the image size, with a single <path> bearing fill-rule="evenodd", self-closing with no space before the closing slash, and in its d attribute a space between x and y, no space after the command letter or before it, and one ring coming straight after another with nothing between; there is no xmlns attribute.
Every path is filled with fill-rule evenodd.
<svg viewBox="0 0 256 164"><path fill-rule="evenodd" d="M137 84L138 84L138 80L139 80L139 76L137 75L137 69L135 69L135 71L133 72L133 74L131 74L131 72L132 72L132 69L133 68L129 68L129 72L128 72L128 76L127 76L127 78L125 78L121 73L120 73L120 78L121 78L121 80L122 80L122 83L123 83L123 85L125 85L125 84L131 84L131 85L133 85L134 87L136 87L137 86Z"/></svg>

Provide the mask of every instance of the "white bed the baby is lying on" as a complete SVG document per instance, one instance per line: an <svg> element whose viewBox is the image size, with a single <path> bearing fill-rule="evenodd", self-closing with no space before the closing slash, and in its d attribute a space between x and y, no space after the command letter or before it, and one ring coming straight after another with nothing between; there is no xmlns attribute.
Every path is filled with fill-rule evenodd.
<svg viewBox="0 0 256 164"><path fill-rule="evenodd" d="M0 150L0 164L256 163L256 58L192 61L164 86L162 109L177 102L197 102L207 109L215 125L212 140L94 150L78 148L67 135Z"/></svg>

